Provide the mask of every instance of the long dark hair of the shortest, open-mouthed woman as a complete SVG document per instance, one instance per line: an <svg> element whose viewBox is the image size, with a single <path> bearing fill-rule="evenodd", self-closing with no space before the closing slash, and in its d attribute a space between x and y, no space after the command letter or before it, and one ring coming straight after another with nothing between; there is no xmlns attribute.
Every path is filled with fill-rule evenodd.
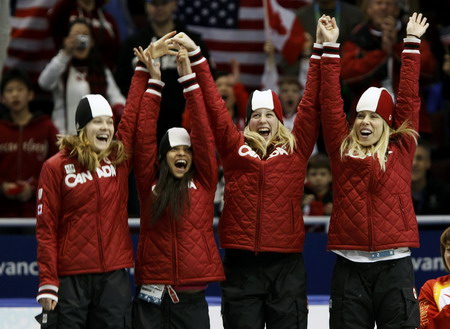
<svg viewBox="0 0 450 329"><path fill-rule="evenodd" d="M194 163L189 171L179 179L170 172L166 157L161 159L158 182L149 198L152 225L160 219L166 209L170 216L176 220L181 219L184 212L190 207L189 182L193 175Z"/></svg>

